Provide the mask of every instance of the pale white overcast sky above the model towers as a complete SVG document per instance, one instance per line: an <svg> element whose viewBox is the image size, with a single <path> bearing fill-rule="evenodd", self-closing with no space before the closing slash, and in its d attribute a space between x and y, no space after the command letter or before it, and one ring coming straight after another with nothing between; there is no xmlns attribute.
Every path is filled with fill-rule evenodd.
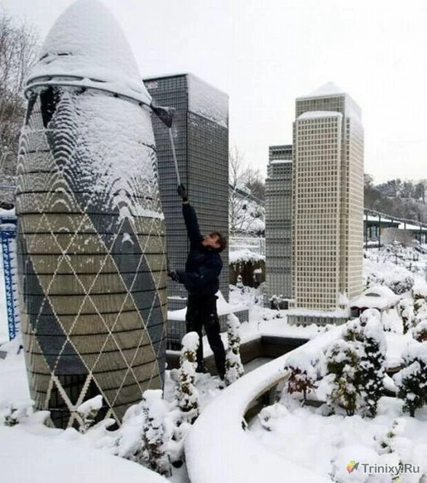
<svg viewBox="0 0 427 483"><path fill-rule="evenodd" d="M142 77L193 72L229 95L230 143L265 174L295 98L333 81L362 109L365 171L427 178L427 5L383 0L103 0ZM0 0L44 37L72 0Z"/></svg>

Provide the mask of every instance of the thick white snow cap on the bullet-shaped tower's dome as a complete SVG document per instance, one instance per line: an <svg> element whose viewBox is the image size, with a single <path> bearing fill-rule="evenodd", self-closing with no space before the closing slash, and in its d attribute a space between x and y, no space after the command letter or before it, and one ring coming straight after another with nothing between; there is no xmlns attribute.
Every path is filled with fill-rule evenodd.
<svg viewBox="0 0 427 483"><path fill-rule="evenodd" d="M122 29L98 0L77 0L61 14L44 41L26 90L57 83L151 104Z"/></svg>

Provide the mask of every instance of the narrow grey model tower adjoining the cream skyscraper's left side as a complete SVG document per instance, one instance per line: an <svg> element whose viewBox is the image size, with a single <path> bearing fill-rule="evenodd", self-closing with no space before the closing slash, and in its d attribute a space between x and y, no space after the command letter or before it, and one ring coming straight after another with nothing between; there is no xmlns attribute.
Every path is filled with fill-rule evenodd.
<svg viewBox="0 0 427 483"><path fill-rule="evenodd" d="M276 295L281 308L292 298L292 145L269 146L265 179L265 282L267 305Z"/></svg>

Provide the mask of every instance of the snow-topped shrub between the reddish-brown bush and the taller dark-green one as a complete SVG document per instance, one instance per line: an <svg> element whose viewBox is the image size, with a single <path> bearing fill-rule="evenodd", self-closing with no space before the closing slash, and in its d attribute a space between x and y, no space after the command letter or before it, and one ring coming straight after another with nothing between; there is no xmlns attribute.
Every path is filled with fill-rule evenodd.
<svg viewBox="0 0 427 483"><path fill-rule="evenodd" d="M334 375L328 404L338 404L349 416L354 415L359 395L359 361L357 350L344 340L334 342L326 353L328 373Z"/></svg>

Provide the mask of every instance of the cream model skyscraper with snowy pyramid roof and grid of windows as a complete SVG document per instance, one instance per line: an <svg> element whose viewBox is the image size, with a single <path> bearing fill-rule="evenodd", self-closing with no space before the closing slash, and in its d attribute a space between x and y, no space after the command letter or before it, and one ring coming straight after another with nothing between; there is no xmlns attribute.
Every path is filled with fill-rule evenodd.
<svg viewBox="0 0 427 483"><path fill-rule="evenodd" d="M361 292L363 256L361 110L333 83L296 99L292 184L293 305L333 311Z"/></svg>

